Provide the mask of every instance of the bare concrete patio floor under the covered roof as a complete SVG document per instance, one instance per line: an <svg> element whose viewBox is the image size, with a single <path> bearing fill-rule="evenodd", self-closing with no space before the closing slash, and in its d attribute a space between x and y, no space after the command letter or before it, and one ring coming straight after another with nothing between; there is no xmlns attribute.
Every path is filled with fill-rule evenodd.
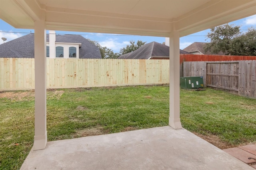
<svg viewBox="0 0 256 170"><path fill-rule="evenodd" d="M21 170L255 170L190 133L170 126L47 143Z"/></svg>

